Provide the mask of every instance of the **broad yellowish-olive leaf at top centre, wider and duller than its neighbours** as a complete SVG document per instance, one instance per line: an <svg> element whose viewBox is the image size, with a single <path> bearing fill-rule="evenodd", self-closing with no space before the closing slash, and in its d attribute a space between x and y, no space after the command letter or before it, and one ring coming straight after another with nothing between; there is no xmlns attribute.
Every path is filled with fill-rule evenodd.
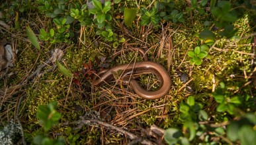
<svg viewBox="0 0 256 145"><path fill-rule="evenodd" d="M132 27L132 21L134 21L134 18L136 17L137 9L124 9L124 24L126 26Z"/></svg>

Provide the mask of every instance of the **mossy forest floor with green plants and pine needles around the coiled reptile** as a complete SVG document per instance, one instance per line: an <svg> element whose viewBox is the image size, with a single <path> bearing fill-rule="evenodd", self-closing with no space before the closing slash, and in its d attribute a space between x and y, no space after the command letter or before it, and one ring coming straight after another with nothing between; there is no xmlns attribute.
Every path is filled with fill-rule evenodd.
<svg viewBox="0 0 256 145"><path fill-rule="evenodd" d="M248 6L248 1L232 2L108 1L101 5L93 0L94 8L88 7L89 2L79 0L1 3L1 20L11 28L0 28L0 38L6 38L13 51L18 52L11 69L13 74L0 80L0 129L12 119L19 119L28 144L43 144L42 140L60 143L63 142L58 140L60 137L65 144L130 142L128 136L104 125L76 122L85 117L143 138L150 138L147 129L157 125L166 131L165 140L161 138L163 135L151 139L155 144L255 141L242 135L256 134L255 47L252 47L256 43L253 40L256 15L251 13L255 12L255 5ZM243 15L235 11L240 6L245 9L237 11ZM219 14L209 10L222 7L228 11L224 9ZM130 19L126 20L127 17ZM40 49L28 43L31 40L26 34L27 27L40 38ZM202 45L206 48L202 49ZM169 72L172 86L165 97L144 100L129 86L118 82L99 88L91 85L93 74L105 67L142 61L136 52L106 61L114 53L132 47L142 47L150 61L163 65ZM53 69L55 64L47 64L34 79L28 80L56 48L64 51L60 63L73 75L65 76L60 69ZM200 53L202 57L197 56ZM181 80L182 74L187 75L187 81ZM157 89L157 78L152 74L142 75L140 84ZM37 115L38 106L47 106L52 101L58 107L54 105L51 111L61 117L45 130L43 119ZM239 133L235 135L232 131ZM177 136L173 136L175 133ZM42 138L35 143L38 135Z"/></svg>

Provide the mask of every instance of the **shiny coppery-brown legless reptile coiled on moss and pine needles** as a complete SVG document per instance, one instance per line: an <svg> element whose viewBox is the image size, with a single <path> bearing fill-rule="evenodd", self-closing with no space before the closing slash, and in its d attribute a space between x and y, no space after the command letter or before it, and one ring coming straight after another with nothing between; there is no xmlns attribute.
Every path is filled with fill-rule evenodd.
<svg viewBox="0 0 256 145"><path fill-rule="evenodd" d="M138 50L142 55L144 55L144 61L141 62L134 62L128 63L124 65L118 65L116 67L112 67L110 69L103 69L102 71L98 72L97 75L93 77L93 85L94 86L101 86L105 84L105 82L114 80L113 72L122 71L121 77L123 78L122 82L124 84L129 84L134 92L138 94L138 96L153 100L158 99L165 96L169 90L171 89L171 78L169 73L165 70L165 68L158 63L154 63L153 61L148 61L148 57L145 55L145 52L141 48L134 48ZM129 51L124 50L122 52ZM121 52L116 53L114 57L119 55ZM114 58L113 57L113 58ZM140 73L153 73L157 76L160 84L158 90L155 91L148 91L142 88L138 82L134 78L130 78L127 74L140 74Z"/></svg>

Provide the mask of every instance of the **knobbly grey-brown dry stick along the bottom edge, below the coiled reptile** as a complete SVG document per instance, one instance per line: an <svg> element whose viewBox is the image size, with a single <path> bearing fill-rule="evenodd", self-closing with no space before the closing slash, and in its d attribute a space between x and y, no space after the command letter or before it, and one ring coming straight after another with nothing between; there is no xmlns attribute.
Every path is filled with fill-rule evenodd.
<svg viewBox="0 0 256 145"><path fill-rule="evenodd" d="M114 129L118 132L121 132L122 134L125 134L131 140L141 140L142 144L154 144L153 142L151 142L147 139L144 139L144 138L140 138L139 136L136 136L135 134L132 134L124 129L120 129L118 127L115 127L114 125L110 125L108 123L105 123L105 122L102 122L102 121L99 121L96 119L87 120L87 119L85 119L85 117L81 117L81 119L79 121L76 121L75 123L79 124L79 125L78 125L78 127L75 127L74 129L81 129L81 127L83 127L83 125L91 125L91 124L103 125L103 127L108 127L110 129Z"/></svg>

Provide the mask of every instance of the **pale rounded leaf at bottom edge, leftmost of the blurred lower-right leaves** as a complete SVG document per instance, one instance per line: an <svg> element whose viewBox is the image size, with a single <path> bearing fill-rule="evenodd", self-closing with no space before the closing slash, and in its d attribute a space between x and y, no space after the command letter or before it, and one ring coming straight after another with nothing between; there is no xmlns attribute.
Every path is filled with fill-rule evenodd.
<svg viewBox="0 0 256 145"><path fill-rule="evenodd" d="M183 136L183 133L179 129L170 128L165 130L165 142L167 144L176 144L179 137Z"/></svg>

